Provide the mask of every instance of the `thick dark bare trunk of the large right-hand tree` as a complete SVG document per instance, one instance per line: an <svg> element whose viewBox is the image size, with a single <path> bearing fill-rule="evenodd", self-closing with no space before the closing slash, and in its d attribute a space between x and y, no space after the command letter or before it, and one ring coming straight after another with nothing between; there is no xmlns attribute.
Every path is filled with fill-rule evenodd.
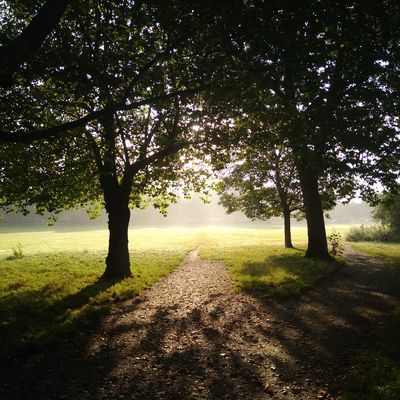
<svg viewBox="0 0 400 400"><path fill-rule="evenodd" d="M305 165L297 166L307 219L308 248L306 257L329 259L324 211L318 190L318 174Z"/></svg>

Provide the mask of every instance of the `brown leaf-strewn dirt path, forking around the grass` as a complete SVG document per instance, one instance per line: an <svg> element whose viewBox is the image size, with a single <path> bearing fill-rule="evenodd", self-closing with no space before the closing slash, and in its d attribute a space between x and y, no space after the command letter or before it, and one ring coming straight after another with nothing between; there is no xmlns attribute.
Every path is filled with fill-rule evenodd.
<svg viewBox="0 0 400 400"><path fill-rule="evenodd" d="M2 399L318 399L400 305L396 272L346 249L348 266L297 299L236 294L192 252L95 332L1 372Z"/></svg>

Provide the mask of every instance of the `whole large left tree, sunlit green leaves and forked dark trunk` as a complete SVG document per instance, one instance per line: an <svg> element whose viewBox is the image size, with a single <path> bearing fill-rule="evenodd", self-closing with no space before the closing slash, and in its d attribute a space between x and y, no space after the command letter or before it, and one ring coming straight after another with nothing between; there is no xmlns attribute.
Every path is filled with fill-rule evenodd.
<svg viewBox="0 0 400 400"><path fill-rule="evenodd" d="M205 131L191 129L199 110L188 99L203 85L204 25L185 7L161 5L104 0L68 9L42 47L40 77L32 79L36 69L22 71L0 109L9 132L70 124L69 134L1 148L1 205L39 212L104 205L107 278L130 275L130 207L153 199L164 209L174 182L202 184L202 171L188 174L187 165L208 141ZM200 26L195 43L189 31Z"/></svg>

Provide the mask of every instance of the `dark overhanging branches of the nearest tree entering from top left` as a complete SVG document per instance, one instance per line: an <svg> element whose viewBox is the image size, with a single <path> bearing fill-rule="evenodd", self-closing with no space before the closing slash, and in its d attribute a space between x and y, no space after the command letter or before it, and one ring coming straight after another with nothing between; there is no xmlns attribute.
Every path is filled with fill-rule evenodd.
<svg viewBox="0 0 400 400"><path fill-rule="evenodd" d="M25 100L25 96L22 95L21 97L18 97L18 94L12 90L12 84L18 82L18 91L21 92L21 86L29 86L32 81L35 81L36 84L38 82L40 83L43 79L46 79L46 74L49 76L49 74L51 75L55 72L54 66L53 69L51 69L51 65L49 66L46 62L41 62L43 61L43 55L46 54L45 51L43 51L43 47L45 47L43 44L51 44L53 47L60 45L61 48L59 50L61 50L61 52L65 50L66 47L73 47L66 40L55 41L53 37L54 35L51 35L53 30L59 30L57 28L59 28L61 17L63 17L64 20L64 28L70 27L71 29L75 29L74 32L71 31L72 36L74 36L75 33L78 33L79 36L79 29L83 25L76 24L76 18L81 15L82 10L87 8L92 8L92 10L98 8L98 10L101 10L104 1L93 0L92 2L86 2L86 4L78 4L78 2L76 2L74 7L72 9L70 8L69 12L66 12L66 7L69 3L71 3L70 0L49 0L39 8L37 15L35 15L29 23L27 23L26 20L29 21L31 15L35 14L36 9L33 11L31 10L34 8L35 2L26 3L16 1L11 5L7 5L7 7L4 4L4 13L2 15L3 20L0 24L0 37L3 42L2 47L0 47L0 66L2 66L3 73L2 77L0 77L0 87L11 89L10 91L1 93L0 104L5 108L9 107L10 102L19 102L22 104L22 107L31 106L29 103L27 104L26 102L22 102ZM113 2L109 3L109 6L111 6ZM192 31L194 32L199 26L203 27L203 31L207 31L207 27L210 26L209 22L211 21L212 23L215 23L214 20L218 18L218 12L220 11L218 10L218 6L215 7L215 4L212 2L209 4L203 3L199 7L196 2L191 4L191 2L182 3L176 1L169 2L168 8L163 7L162 3L153 3L155 7L158 7L161 10L161 15L164 20L169 18L167 24L172 26L174 23L178 23L180 27L184 27L183 31L186 31L187 38L185 38L183 31L181 31L181 36L176 38L177 42L181 40L182 42L188 43L191 40L189 38L193 37L190 36L190 33ZM135 4L132 1L120 2L114 6L126 10L126 4L135 8ZM143 5L142 1L136 2L136 6L140 7L141 4ZM199 8L203 15L202 18L199 18L197 12ZM183 19L180 19L180 16L182 15ZM198 20L197 23L194 22L196 19ZM136 23L136 21L137 20L134 18L132 24ZM191 28L193 29L191 30ZM104 34L107 35L107 32ZM209 37L211 38L212 35L209 35ZM210 41L213 42L213 40ZM140 47L136 48L137 43L130 40L129 44L131 55L135 52L141 53L142 49ZM39 49L41 50L40 54ZM29 63L31 58L33 58L33 60ZM73 57L67 55L64 59L65 65L59 66L61 67L61 71L66 66L71 67L69 63L73 62L72 58ZM25 64L21 67L20 64L23 62L25 62ZM146 69L145 66L143 67ZM56 71L56 73L59 74L60 69ZM28 87L26 89L29 91ZM183 93L180 91L179 94L193 94L198 92L199 89L200 88L190 88L188 90L183 90ZM176 93L169 93L169 95L172 97L175 96ZM14 99L13 96L17 96L17 99ZM81 112L75 119L69 118L62 121L46 120L47 124L41 123L39 125L32 125L30 123L31 121L25 121L26 123L16 124L13 128L9 129L4 129L4 126L2 126L3 129L0 130L0 142L29 144L41 139L50 139L73 130L76 131L76 129L79 128L84 128L91 121L95 121L106 115L112 115L117 111L133 109L143 104L148 104L152 100L157 101L159 100L159 96L144 101L141 99L133 104L127 104L127 100L127 98L121 98L119 102L114 102L107 107L103 106L99 109L86 111L86 113ZM19 111L20 110L17 110L17 115Z"/></svg>

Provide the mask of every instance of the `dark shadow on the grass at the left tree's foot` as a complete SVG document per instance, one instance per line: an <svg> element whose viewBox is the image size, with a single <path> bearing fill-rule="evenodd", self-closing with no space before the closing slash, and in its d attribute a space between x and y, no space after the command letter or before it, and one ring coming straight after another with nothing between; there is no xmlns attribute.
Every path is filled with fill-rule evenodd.
<svg viewBox="0 0 400 400"><path fill-rule="evenodd" d="M91 299L113 286L116 281L98 279L51 304L48 299L60 291L56 285L46 285L38 290L10 292L0 298L0 359L9 359L35 351L38 347L58 342L83 323L93 322L109 310L109 305L91 304ZM80 314L82 307L87 306ZM71 318L71 313L75 315ZM40 325L39 325L40 322ZM13 332L19 332L12 337ZM36 336L37 340L32 339Z"/></svg>

